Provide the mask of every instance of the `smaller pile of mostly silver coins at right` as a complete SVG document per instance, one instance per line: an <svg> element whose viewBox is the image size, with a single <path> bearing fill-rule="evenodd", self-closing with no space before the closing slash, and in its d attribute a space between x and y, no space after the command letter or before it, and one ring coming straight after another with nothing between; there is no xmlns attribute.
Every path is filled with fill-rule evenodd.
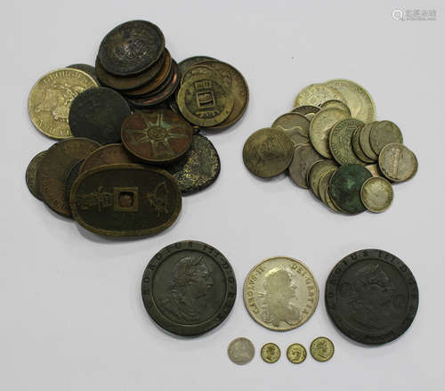
<svg viewBox="0 0 445 391"><path fill-rule="evenodd" d="M350 80L306 86L293 110L247 139L244 163L263 178L287 170L336 212L382 212L392 203L392 183L416 174L417 158L399 126L375 119L371 96Z"/></svg>

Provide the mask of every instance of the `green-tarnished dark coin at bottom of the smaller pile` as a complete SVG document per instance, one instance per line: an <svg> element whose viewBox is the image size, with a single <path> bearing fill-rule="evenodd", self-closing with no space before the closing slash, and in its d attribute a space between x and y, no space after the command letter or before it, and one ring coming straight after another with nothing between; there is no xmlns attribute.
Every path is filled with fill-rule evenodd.
<svg viewBox="0 0 445 391"><path fill-rule="evenodd" d="M360 164L346 164L339 167L329 183L329 195L334 204L347 213L366 210L361 202L361 186L372 174Z"/></svg>

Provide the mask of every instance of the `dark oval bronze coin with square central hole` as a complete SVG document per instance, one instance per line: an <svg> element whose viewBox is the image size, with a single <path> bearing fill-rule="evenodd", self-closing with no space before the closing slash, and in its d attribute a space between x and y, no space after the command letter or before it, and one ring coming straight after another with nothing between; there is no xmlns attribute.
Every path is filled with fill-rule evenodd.
<svg viewBox="0 0 445 391"><path fill-rule="evenodd" d="M96 167L77 178L69 199L77 223L109 236L149 235L174 223L181 191L164 170L122 164Z"/></svg>

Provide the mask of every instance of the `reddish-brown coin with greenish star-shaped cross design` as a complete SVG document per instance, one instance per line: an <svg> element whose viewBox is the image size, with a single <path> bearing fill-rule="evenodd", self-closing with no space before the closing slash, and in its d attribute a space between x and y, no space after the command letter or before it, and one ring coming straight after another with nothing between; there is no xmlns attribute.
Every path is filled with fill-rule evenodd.
<svg viewBox="0 0 445 391"><path fill-rule="evenodd" d="M150 163L179 159L190 148L193 129L172 110L134 111L122 124L122 143L135 157Z"/></svg>

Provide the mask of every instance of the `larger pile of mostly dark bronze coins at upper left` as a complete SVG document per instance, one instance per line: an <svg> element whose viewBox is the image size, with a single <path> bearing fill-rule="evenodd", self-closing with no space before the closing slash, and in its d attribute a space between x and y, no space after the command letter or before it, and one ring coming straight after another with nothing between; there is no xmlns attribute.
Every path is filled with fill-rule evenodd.
<svg viewBox="0 0 445 391"><path fill-rule="evenodd" d="M95 68L56 69L32 88L33 124L61 141L31 160L28 188L95 233L163 231L182 194L220 173L201 130L233 125L247 103L246 80L231 65L205 56L177 64L156 25L125 22L101 41Z"/></svg>

